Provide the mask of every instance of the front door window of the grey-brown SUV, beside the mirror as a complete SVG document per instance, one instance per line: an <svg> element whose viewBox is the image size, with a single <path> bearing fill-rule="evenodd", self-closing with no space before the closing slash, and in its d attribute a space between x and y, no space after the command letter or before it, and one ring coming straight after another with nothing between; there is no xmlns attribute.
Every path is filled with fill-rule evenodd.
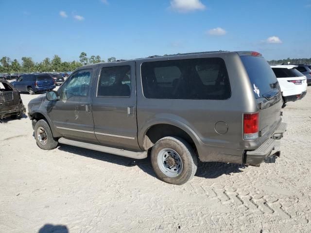
<svg viewBox="0 0 311 233"><path fill-rule="evenodd" d="M88 96L92 70L83 69L72 74L62 85L61 100L68 100L74 96Z"/></svg>

